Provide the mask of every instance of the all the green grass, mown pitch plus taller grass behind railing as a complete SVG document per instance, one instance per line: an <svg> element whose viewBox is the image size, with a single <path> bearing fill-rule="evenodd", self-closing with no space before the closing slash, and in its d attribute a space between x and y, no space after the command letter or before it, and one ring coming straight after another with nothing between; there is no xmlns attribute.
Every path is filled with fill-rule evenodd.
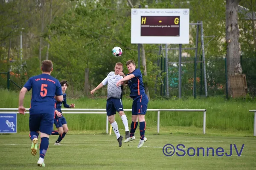
<svg viewBox="0 0 256 170"><path fill-rule="evenodd" d="M0 89L0 108L17 108L18 93ZM24 106L29 108L30 92L26 95ZM75 103L76 108L105 108L105 98L67 99ZM131 108L132 100L123 99L124 108ZM206 134L203 134L203 113L200 112L161 112L160 133L157 134L157 112L146 114L147 127L145 136L148 141L137 148L140 138L139 127L133 142L123 143L119 148L116 136L105 134L106 116L104 114L64 114L69 132L61 142L54 146L58 136L50 136L49 149L45 157L46 169L60 170L252 170L256 167L256 137L253 136L253 113L256 109L253 100L225 100L222 97L186 100L151 100L148 108L207 109ZM131 113L126 112L128 125ZM37 167L39 154L30 153L29 115L18 115L17 134L0 134L0 170L32 169ZM122 135L125 130L122 120L116 116L116 122ZM110 125L109 125L110 126ZM39 140L40 142L40 140ZM199 156L179 157L165 156L163 146L166 144L184 144L189 147L213 147L209 156L202 150ZM241 156L233 147L230 157L216 155L218 147L230 154L230 144L236 144ZM171 150L167 150L168 152ZM192 154L190 150L190 154ZM182 154L182 152L178 152Z"/></svg>

